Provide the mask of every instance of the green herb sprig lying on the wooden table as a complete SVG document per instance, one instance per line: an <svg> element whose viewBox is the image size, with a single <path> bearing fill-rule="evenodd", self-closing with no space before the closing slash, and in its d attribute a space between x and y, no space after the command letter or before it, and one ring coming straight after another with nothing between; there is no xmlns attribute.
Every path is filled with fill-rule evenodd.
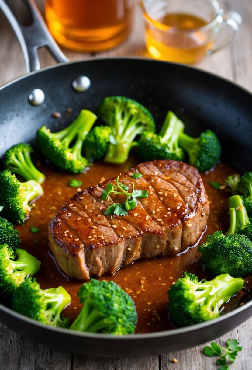
<svg viewBox="0 0 252 370"><path fill-rule="evenodd" d="M227 349L218 346L215 342L211 343L211 346L204 347L204 354L206 356L219 356L219 359L216 361L217 365L221 365L219 370L229 370L227 366L227 359L228 356L229 361L233 363L236 359L237 352L242 350L242 347L239 346L239 342L237 339L227 339ZM224 353L223 353L224 352Z"/></svg>

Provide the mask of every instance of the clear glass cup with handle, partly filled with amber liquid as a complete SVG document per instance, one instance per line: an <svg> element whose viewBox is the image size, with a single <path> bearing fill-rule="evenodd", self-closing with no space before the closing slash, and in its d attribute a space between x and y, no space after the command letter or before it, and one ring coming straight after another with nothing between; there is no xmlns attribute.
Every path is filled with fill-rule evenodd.
<svg viewBox="0 0 252 370"><path fill-rule="evenodd" d="M156 59L197 63L231 44L238 33L241 16L221 9L218 0L138 0L145 21L147 50ZM222 26L232 34L215 43Z"/></svg>

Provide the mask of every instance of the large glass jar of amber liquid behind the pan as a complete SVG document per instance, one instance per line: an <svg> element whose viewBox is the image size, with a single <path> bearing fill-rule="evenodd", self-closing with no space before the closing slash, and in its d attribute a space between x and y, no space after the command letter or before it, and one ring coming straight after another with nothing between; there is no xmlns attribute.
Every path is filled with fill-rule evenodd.
<svg viewBox="0 0 252 370"><path fill-rule="evenodd" d="M47 26L62 46L99 51L125 40L133 24L134 0L46 0Z"/></svg>

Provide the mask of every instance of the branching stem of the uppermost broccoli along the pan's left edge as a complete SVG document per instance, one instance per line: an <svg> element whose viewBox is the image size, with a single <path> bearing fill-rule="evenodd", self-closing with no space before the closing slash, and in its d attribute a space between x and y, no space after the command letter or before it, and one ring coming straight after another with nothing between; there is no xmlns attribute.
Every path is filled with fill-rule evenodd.
<svg viewBox="0 0 252 370"><path fill-rule="evenodd" d="M17 152L16 155L11 157L12 163L8 165L8 168L18 174L23 176L25 180L35 180L39 184L42 184L45 180L45 175L42 174L38 169L34 166L33 162L31 161L30 152Z"/></svg>

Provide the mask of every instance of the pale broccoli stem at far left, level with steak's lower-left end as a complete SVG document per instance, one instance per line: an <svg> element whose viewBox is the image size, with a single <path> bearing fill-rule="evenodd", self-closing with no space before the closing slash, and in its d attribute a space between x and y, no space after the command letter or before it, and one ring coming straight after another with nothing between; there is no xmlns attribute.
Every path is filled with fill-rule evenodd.
<svg viewBox="0 0 252 370"><path fill-rule="evenodd" d="M24 279L28 276L35 275L40 269L40 261L24 249L17 248L17 260L13 261L13 275L21 275Z"/></svg>

